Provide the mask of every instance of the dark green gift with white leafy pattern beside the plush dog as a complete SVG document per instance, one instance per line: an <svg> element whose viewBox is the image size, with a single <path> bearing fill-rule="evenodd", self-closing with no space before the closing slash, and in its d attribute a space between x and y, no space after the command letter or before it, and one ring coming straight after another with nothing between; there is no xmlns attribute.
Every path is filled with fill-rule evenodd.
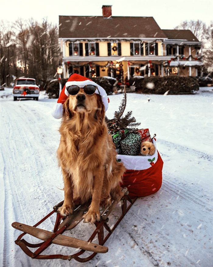
<svg viewBox="0 0 213 267"><path fill-rule="evenodd" d="M141 148L141 136L131 133L124 140L120 141L123 155L137 156Z"/></svg>

